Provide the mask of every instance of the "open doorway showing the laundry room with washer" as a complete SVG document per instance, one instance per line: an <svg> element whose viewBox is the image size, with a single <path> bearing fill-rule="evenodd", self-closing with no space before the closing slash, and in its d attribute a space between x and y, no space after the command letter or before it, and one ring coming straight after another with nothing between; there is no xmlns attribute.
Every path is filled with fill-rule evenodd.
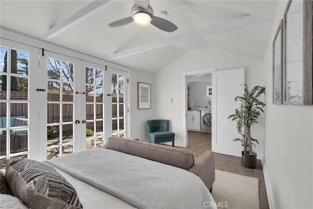
<svg viewBox="0 0 313 209"><path fill-rule="evenodd" d="M211 150L212 98L206 95L211 86L211 74L216 68L189 70L182 73L183 93L183 144L185 147ZM212 92L211 92L212 93ZM210 113L208 113L210 112ZM202 114L202 115L201 115ZM203 117L203 118L202 118ZM188 141L188 139L190 139Z"/></svg>

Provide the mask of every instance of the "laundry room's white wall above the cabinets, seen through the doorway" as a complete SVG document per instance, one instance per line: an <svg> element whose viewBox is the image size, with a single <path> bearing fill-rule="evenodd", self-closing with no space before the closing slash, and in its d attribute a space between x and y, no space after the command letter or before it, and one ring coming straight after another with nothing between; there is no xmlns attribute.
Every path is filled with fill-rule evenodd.
<svg viewBox="0 0 313 209"><path fill-rule="evenodd" d="M209 98L205 97L205 85L211 86L212 81L199 81L188 83L188 86L190 87L189 100L191 109L195 110L207 106L208 100L212 102L212 96L210 96ZM198 102L196 102L196 100Z"/></svg>

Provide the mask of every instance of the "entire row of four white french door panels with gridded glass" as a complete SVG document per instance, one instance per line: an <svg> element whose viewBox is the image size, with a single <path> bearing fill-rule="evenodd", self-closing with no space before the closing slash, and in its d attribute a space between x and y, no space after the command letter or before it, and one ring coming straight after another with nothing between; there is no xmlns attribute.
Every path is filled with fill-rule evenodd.
<svg viewBox="0 0 313 209"><path fill-rule="evenodd" d="M0 41L1 168L5 159L44 161L129 137L127 71Z"/></svg>

